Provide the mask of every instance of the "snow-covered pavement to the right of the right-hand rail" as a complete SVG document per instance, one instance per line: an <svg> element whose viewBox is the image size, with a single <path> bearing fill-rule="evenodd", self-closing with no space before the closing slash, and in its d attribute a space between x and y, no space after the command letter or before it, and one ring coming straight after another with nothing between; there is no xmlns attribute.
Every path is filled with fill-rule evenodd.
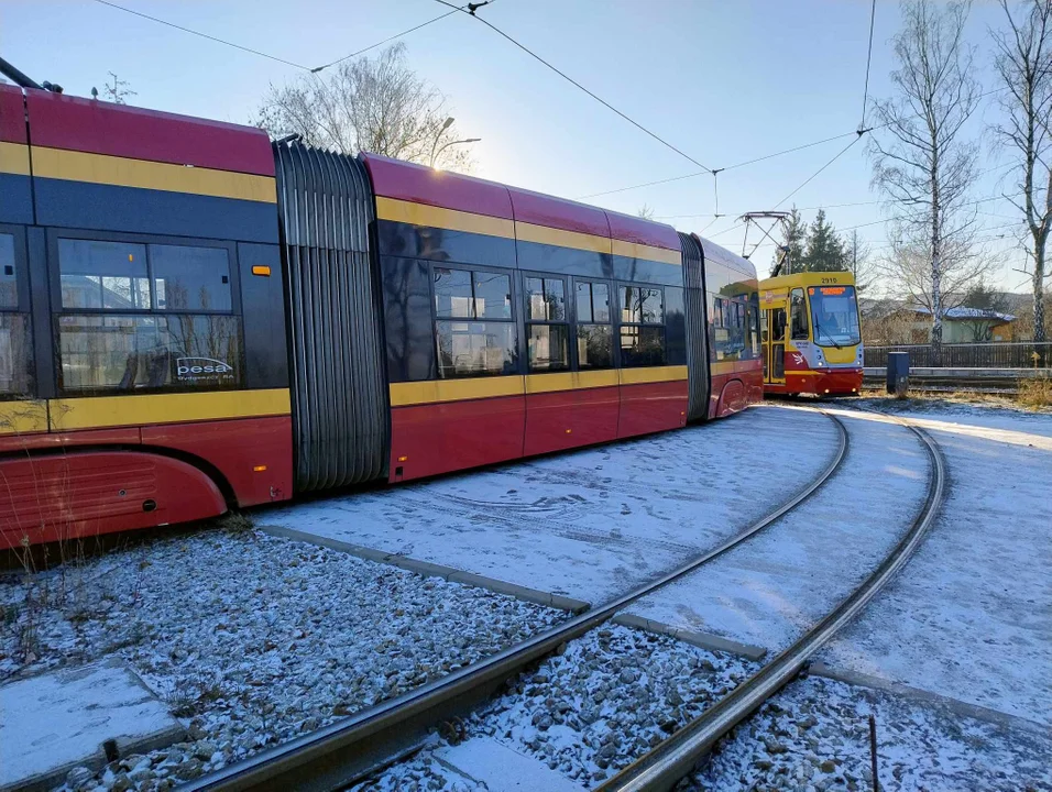
<svg viewBox="0 0 1052 792"><path fill-rule="evenodd" d="M951 405L917 417L875 403L931 433L949 497L913 559L821 659L1052 725L1052 415Z"/></svg>

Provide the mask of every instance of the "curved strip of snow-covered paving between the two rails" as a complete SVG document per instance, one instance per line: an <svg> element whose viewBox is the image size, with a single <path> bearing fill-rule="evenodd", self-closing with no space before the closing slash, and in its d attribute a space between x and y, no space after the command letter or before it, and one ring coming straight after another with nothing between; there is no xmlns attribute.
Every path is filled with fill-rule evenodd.
<svg viewBox="0 0 1052 792"><path fill-rule="evenodd" d="M817 494L629 613L774 651L833 610L909 528L924 503L929 475L928 455L905 427L857 413L841 418L850 438L847 458ZM796 476L796 451L782 447L780 475Z"/></svg>

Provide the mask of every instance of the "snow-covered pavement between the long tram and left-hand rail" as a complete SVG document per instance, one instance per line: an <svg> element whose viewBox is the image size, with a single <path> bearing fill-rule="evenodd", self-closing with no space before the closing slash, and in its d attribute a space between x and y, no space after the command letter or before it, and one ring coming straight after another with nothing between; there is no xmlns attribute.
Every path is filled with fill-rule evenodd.
<svg viewBox="0 0 1052 792"><path fill-rule="evenodd" d="M732 536L828 464L836 430L779 407L262 513L260 521L606 602ZM793 475L764 460L796 449Z"/></svg>

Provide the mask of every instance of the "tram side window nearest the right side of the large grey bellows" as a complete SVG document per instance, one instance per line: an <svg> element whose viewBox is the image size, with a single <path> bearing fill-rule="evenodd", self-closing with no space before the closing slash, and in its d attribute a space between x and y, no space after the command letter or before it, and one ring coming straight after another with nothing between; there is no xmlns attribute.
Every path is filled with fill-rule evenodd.
<svg viewBox="0 0 1052 792"><path fill-rule="evenodd" d="M434 283L438 376L514 374L518 351L511 277L435 267Z"/></svg>

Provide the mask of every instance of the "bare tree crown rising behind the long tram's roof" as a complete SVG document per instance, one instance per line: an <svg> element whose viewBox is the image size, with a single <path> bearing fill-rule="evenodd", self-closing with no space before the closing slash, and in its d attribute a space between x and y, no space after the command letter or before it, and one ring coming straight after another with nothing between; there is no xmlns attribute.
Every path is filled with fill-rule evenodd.
<svg viewBox="0 0 1052 792"><path fill-rule="evenodd" d="M303 135L308 145L360 151L443 169L471 169L446 98L406 65L405 45L339 66L328 79L308 75L270 90L256 123L274 136ZM432 162L434 156L434 162Z"/></svg>

